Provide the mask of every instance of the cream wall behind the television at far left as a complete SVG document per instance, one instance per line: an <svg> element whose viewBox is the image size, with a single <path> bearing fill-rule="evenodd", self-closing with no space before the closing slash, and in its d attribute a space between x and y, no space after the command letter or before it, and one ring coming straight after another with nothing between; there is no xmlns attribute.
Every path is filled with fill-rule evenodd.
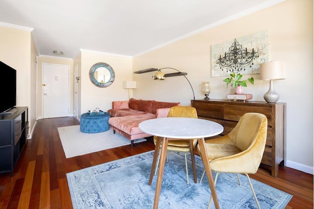
<svg viewBox="0 0 314 209"><path fill-rule="evenodd" d="M8 25L10 26L10 25ZM36 123L36 49L32 28L0 26L0 61L17 71L16 106L28 107L29 133ZM33 100L34 99L34 100Z"/></svg>

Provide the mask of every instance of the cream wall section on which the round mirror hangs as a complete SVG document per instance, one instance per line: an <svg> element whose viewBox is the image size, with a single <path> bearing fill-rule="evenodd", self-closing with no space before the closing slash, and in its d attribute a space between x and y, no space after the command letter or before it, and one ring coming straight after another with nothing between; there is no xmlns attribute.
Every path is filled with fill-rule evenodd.
<svg viewBox="0 0 314 209"><path fill-rule="evenodd" d="M123 89L123 81L132 77L132 58L116 54L81 50L80 73L80 113L86 113L90 109L99 107L103 111L112 108L114 100L128 100L129 90ZM114 82L106 87L95 86L89 79L90 68L98 62L110 65L115 72ZM80 115L79 115L80 116ZM80 118L80 117L79 117Z"/></svg>

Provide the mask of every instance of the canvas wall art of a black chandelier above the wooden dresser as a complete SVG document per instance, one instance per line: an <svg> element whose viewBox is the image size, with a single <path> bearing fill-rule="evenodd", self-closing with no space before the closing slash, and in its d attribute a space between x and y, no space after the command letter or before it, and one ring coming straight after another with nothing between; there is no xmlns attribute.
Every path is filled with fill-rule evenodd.
<svg viewBox="0 0 314 209"><path fill-rule="evenodd" d="M268 56L268 30L212 45L211 77L229 76L232 72L258 74Z"/></svg>

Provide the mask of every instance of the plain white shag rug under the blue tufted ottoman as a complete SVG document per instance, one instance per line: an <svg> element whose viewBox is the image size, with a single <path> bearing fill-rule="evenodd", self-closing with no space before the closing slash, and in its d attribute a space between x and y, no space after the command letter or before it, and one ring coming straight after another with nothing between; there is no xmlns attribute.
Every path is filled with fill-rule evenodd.
<svg viewBox="0 0 314 209"><path fill-rule="evenodd" d="M58 127L58 132L66 158L131 144L131 140L121 134L113 134L111 128L105 132L88 134L80 132L79 125L74 125ZM146 139L135 139L134 143L141 141Z"/></svg>

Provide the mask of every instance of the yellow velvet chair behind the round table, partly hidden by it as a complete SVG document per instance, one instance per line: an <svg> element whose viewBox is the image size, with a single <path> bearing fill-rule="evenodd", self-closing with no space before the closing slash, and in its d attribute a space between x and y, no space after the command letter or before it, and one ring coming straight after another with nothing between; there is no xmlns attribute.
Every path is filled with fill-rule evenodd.
<svg viewBox="0 0 314 209"><path fill-rule="evenodd" d="M193 118L197 118L197 112L196 112L196 109L194 107L175 106L175 107L171 107L170 108L167 117L193 117ZM156 145L157 138L158 138L157 136L154 136L154 143L155 143L155 145ZM196 143L197 143L197 139L194 139L193 140L193 148L196 147ZM187 160L186 160L186 153L187 152L190 152L192 163L194 163L194 165L195 165L194 150L190 149L189 140L188 139L169 140L168 141L168 146L167 146L167 151L184 152L184 155L185 155L186 182L187 182L187 185L188 185L189 181L188 181ZM160 158L160 152L159 152L158 159L157 159L157 166L159 164L159 158ZM167 161L168 161L168 158L167 158ZM157 167L155 169L155 175L156 175L156 172L157 172Z"/></svg>

